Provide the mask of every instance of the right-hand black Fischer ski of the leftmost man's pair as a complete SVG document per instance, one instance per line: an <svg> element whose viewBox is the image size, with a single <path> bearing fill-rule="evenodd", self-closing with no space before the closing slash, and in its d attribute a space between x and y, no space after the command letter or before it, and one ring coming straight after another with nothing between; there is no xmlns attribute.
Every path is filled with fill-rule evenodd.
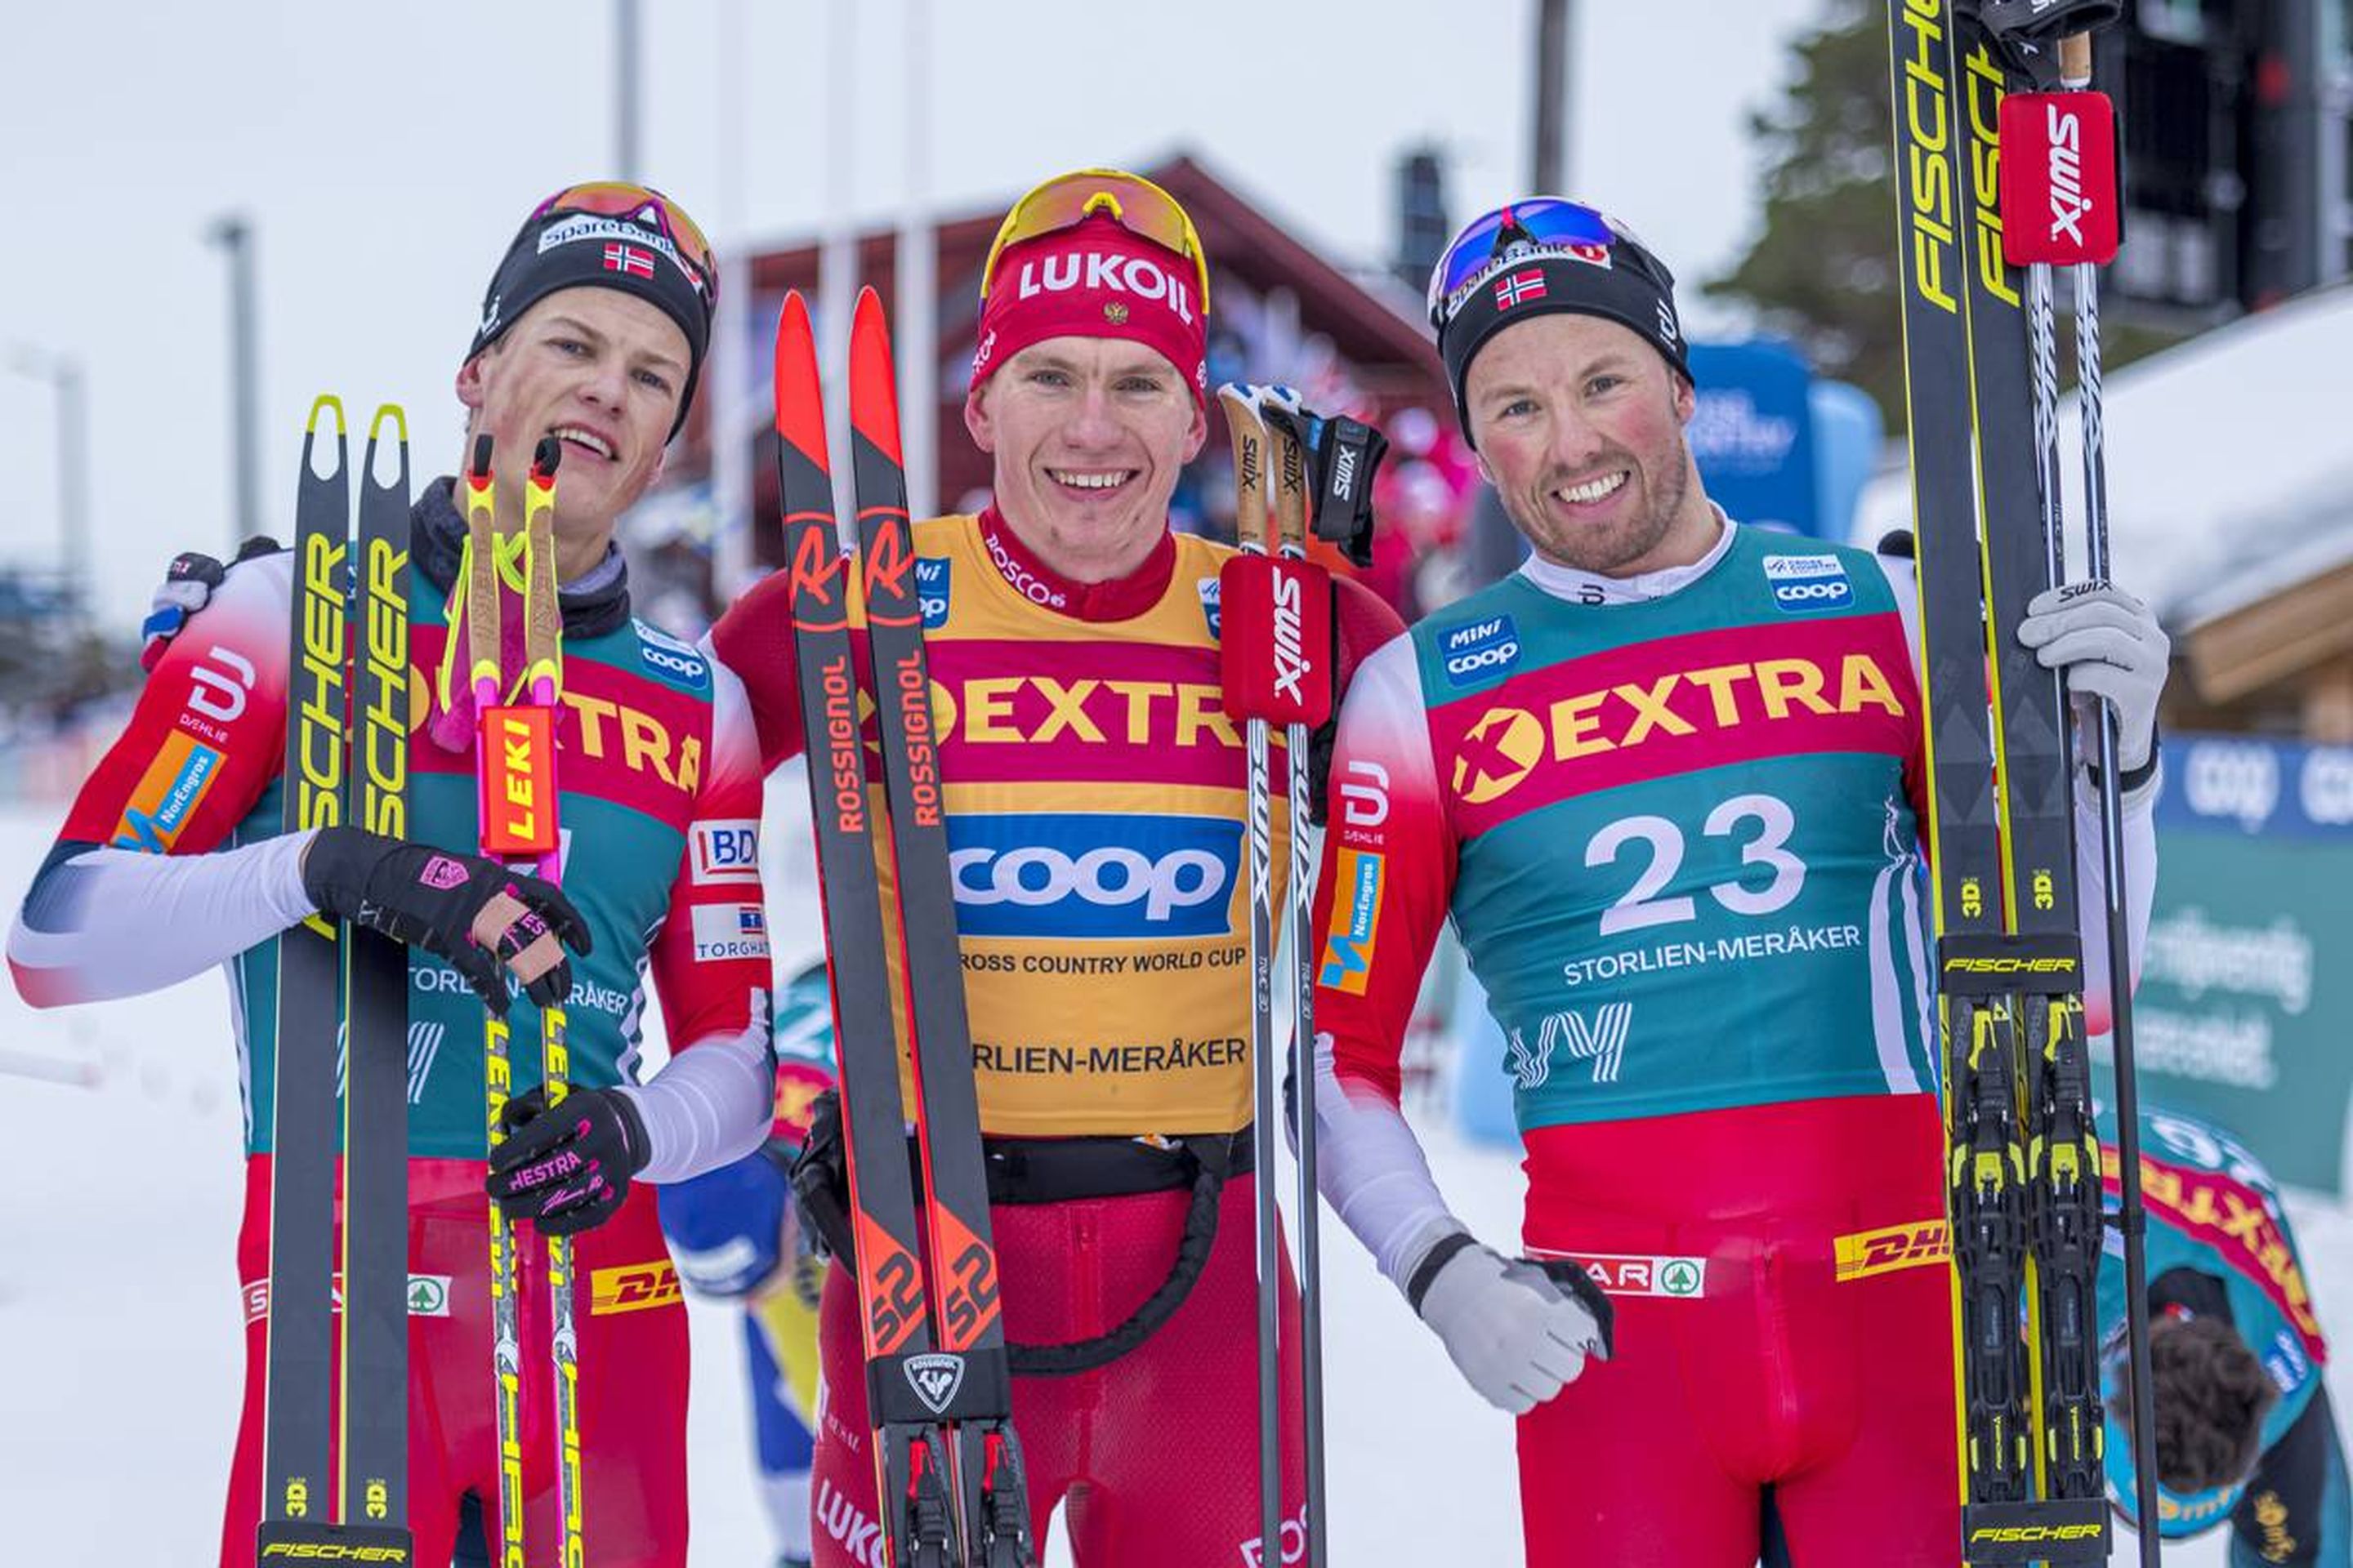
<svg viewBox="0 0 2353 1568"><path fill-rule="evenodd" d="M391 440L386 442L386 428ZM393 477L379 477L381 451ZM376 409L360 465L351 585L353 820L409 837L409 440ZM409 1382L409 952L353 926L344 938L344 1446L341 1519L407 1526Z"/></svg>

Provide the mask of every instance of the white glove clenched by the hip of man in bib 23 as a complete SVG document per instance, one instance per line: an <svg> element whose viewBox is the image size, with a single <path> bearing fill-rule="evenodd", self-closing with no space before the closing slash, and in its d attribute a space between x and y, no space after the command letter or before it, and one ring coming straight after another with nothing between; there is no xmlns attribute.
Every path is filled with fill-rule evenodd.
<svg viewBox="0 0 2353 1568"><path fill-rule="evenodd" d="M1480 1399L1508 1415L1577 1382L1586 1356L1609 1359L1609 1298L1581 1267L1504 1258L1471 1232L1449 1232L1421 1255L1405 1300Z"/></svg>

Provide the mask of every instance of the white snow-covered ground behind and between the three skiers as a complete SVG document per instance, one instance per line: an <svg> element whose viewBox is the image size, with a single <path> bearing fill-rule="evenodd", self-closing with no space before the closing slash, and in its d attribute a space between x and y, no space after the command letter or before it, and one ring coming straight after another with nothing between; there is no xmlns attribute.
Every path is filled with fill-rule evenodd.
<svg viewBox="0 0 2353 1568"><path fill-rule="evenodd" d="M805 813L791 811L798 783L776 783L772 870L786 898L807 900ZM0 809L9 910L56 816ZM774 929L779 959L814 952L805 917L779 907ZM66 1013L35 1013L12 987L0 994L0 1561L193 1568L216 1549L240 1375L240 1133L221 990L205 976ZM1518 1164L1426 1121L1457 1208L1508 1241ZM2353 1342L2353 1222L2318 1204L2294 1204L2294 1220L2322 1319ZM1334 1566L1522 1561L1511 1425L1461 1385L1329 1220L1325 1288ZM704 1368L692 1406L692 1561L765 1566L736 1328L704 1305L692 1319ZM2344 1361L2332 1382L2339 1408L2353 1408ZM1052 1561L1068 1561L1059 1542ZM2221 1540L2172 1549L2167 1561L2219 1566Z"/></svg>

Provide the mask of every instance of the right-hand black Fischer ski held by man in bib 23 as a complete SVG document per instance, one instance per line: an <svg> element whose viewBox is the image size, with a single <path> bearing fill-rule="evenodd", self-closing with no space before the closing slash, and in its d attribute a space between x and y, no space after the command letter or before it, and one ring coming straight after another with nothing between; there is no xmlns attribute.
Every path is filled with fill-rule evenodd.
<svg viewBox="0 0 2353 1568"><path fill-rule="evenodd" d="M2002 259L2000 101L2012 61L1977 21L1955 16L1969 155L1969 343L1979 428L1986 604L1993 637L1995 766L2002 780L2002 907L2017 940L2019 1077L2026 1145L2031 1385L2040 1427L2038 1490L2106 1497L2099 1410L2099 1135L2082 1020L2075 889L2073 729L2066 689L2019 642L2028 602L2061 571L2057 430L2038 418L2038 362L2021 268ZM2047 277L2040 303L2047 308ZM2045 329L2049 322L2045 320ZM2045 388L2047 390L2047 388ZM2101 1514L2101 1523L2106 1514Z"/></svg>

